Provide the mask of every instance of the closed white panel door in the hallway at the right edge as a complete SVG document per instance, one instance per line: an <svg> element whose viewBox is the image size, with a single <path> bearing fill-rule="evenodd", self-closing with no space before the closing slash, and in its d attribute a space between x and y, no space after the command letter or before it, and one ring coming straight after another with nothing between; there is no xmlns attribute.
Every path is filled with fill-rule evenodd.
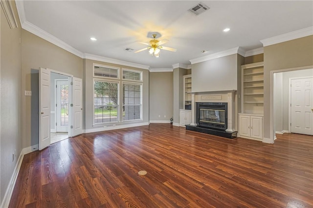
<svg viewBox="0 0 313 208"><path fill-rule="evenodd" d="M313 135L313 78L291 79L291 132Z"/></svg>

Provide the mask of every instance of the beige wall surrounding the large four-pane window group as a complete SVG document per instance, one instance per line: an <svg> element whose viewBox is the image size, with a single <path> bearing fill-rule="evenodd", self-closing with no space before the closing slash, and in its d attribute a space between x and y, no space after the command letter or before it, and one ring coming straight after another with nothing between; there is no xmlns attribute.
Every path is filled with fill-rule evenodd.
<svg viewBox="0 0 313 208"><path fill-rule="evenodd" d="M105 65L105 66L115 66L115 67L120 67L126 68L126 69L132 69L132 70L137 70L137 71L142 71L143 72L143 87L142 87L142 104L143 104L143 121L140 122L149 122L149 71L145 69L139 69L135 67L129 67L129 66L123 66L123 65L118 65L118 64L112 64L112 63L106 63L102 61L95 61L95 60L90 60L90 59L84 59L84 81L85 81L85 89L83 89L83 102L85 106L85 129L86 130L92 130L92 129L97 129L103 128L103 125L100 126L95 126L93 127L93 75L92 75L92 67L93 63ZM137 122L139 123L139 122ZM116 124L118 125L124 125L125 123L120 123ZM105 131L106 129L103 128L102 131Z"/></svg>

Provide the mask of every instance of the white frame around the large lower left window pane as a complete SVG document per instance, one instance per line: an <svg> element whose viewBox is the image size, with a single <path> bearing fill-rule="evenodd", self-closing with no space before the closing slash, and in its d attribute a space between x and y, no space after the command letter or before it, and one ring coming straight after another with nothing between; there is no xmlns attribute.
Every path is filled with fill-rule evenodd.
<svg viewBox="0 0 313 208"><path fill-rule="evenodd" d="M94 115L94 111L95 111L95 106L94 106L94 94L95 94L95 90L94 90L94 82L95 81L99 81L99 82L110 82L110 83L116 83L117 84L117 120L116 121L109 121L109 122L102 122L102 123L95 123L95 115ZM120 81L116 81L116 80L112 80L112 79L100 79L100 78L93 78L92 79L92 126L96 127L96 126L104 126L104 125L110 125L110 124L116 124L116 123L120 123L121 122L121 103L120 103Z"/></svg>

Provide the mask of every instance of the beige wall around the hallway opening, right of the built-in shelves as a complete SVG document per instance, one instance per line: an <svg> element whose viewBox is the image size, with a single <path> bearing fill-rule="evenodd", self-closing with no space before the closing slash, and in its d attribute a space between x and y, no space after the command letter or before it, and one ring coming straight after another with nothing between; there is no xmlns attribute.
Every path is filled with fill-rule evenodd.
<svg viewBox="0 0 313 208"><path fill-rule="evenodd" d="M264 137L270 138L270 72L313 65L313 36L264 47ZM274 130L274 129L273 129ZM272 132L274 135L274 132Z"/></svg>

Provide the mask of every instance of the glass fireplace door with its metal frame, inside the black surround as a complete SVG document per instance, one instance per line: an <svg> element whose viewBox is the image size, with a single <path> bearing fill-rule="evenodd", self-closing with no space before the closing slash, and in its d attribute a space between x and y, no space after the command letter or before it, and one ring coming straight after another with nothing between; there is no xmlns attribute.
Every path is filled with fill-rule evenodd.
<svg viewBox="0 0 313 208"><path fill-rule="evenodd" d="M225 125L225 110L199 109L199 113L200 122Z"/></svg>

